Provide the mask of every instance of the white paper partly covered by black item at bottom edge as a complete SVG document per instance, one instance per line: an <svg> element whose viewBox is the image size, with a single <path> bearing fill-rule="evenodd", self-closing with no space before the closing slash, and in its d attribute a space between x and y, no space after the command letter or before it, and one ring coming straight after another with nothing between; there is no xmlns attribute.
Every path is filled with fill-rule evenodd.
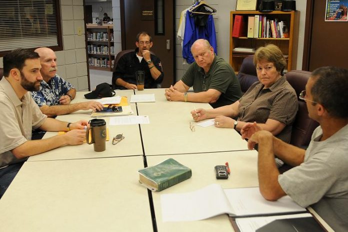
<svg viewBox="0 0 348 232"><path fill-rule="evenodd" d="M277 219L293 219L293 218L306 218L312 217L311 214L291 214L291 215L278 215L269 217L252 217L252 218L240 218L235 219L240 232L255 232L257 229L273 222ZM295 232L295 230L294 230Z"/></svg>

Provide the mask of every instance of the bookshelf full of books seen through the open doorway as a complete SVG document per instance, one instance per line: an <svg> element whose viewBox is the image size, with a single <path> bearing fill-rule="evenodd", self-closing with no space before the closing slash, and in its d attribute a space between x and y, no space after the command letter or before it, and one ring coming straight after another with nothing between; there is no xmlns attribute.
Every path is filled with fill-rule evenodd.
<svg viewBox="0 0 348 232"><path fill-rule="evenodd" d="M113 26L87 24L87 53L90 69L112 71Z"/></svg>

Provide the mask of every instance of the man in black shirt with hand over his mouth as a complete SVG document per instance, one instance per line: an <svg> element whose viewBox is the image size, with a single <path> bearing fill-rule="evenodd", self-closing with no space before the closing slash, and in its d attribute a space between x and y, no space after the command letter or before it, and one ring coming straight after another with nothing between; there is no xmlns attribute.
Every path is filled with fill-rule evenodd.
<svg viewBox="0 0 348 232"><path fill-rule="evenodd" d="M147 32L136 35L136 49L121 56L112 73L112 85L115 89L136 89L135 72L145 73L145 88L156 88L163 80L163 71L157 56L150 54L153 45Z"/></svg>

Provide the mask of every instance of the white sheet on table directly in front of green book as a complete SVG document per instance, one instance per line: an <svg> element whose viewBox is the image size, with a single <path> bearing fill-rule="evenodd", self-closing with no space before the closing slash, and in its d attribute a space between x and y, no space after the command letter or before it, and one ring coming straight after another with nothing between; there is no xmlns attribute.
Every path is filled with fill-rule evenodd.
<svg viewBox="0 0 348 232"><path fill-rule="evenodd" d="M194 192L160 196L163 222L195 221L230 213L231 207L220 185Z"/></svg>

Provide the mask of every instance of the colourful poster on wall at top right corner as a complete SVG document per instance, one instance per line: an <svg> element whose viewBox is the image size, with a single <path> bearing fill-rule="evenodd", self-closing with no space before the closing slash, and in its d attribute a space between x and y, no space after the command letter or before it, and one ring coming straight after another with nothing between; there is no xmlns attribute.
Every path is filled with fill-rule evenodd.
<svg viewBox="0 0 348 232"><path fill-rule="evenodd" d="M348 0L326 0L325 21L348 21Z"/></svg>

